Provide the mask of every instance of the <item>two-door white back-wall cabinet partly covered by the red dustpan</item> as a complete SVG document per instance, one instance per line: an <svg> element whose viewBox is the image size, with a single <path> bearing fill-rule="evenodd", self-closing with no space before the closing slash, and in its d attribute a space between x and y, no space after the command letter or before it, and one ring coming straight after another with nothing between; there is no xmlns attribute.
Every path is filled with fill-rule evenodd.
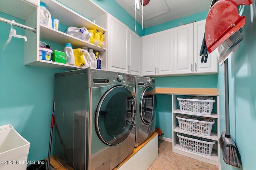
<svg viewBox="0 0 256 170"><path fill-rule="evenodd" d="M216 74L218 59L215 52L201 63L199 55L206 20L174 28L174 74Z"/></svg>

